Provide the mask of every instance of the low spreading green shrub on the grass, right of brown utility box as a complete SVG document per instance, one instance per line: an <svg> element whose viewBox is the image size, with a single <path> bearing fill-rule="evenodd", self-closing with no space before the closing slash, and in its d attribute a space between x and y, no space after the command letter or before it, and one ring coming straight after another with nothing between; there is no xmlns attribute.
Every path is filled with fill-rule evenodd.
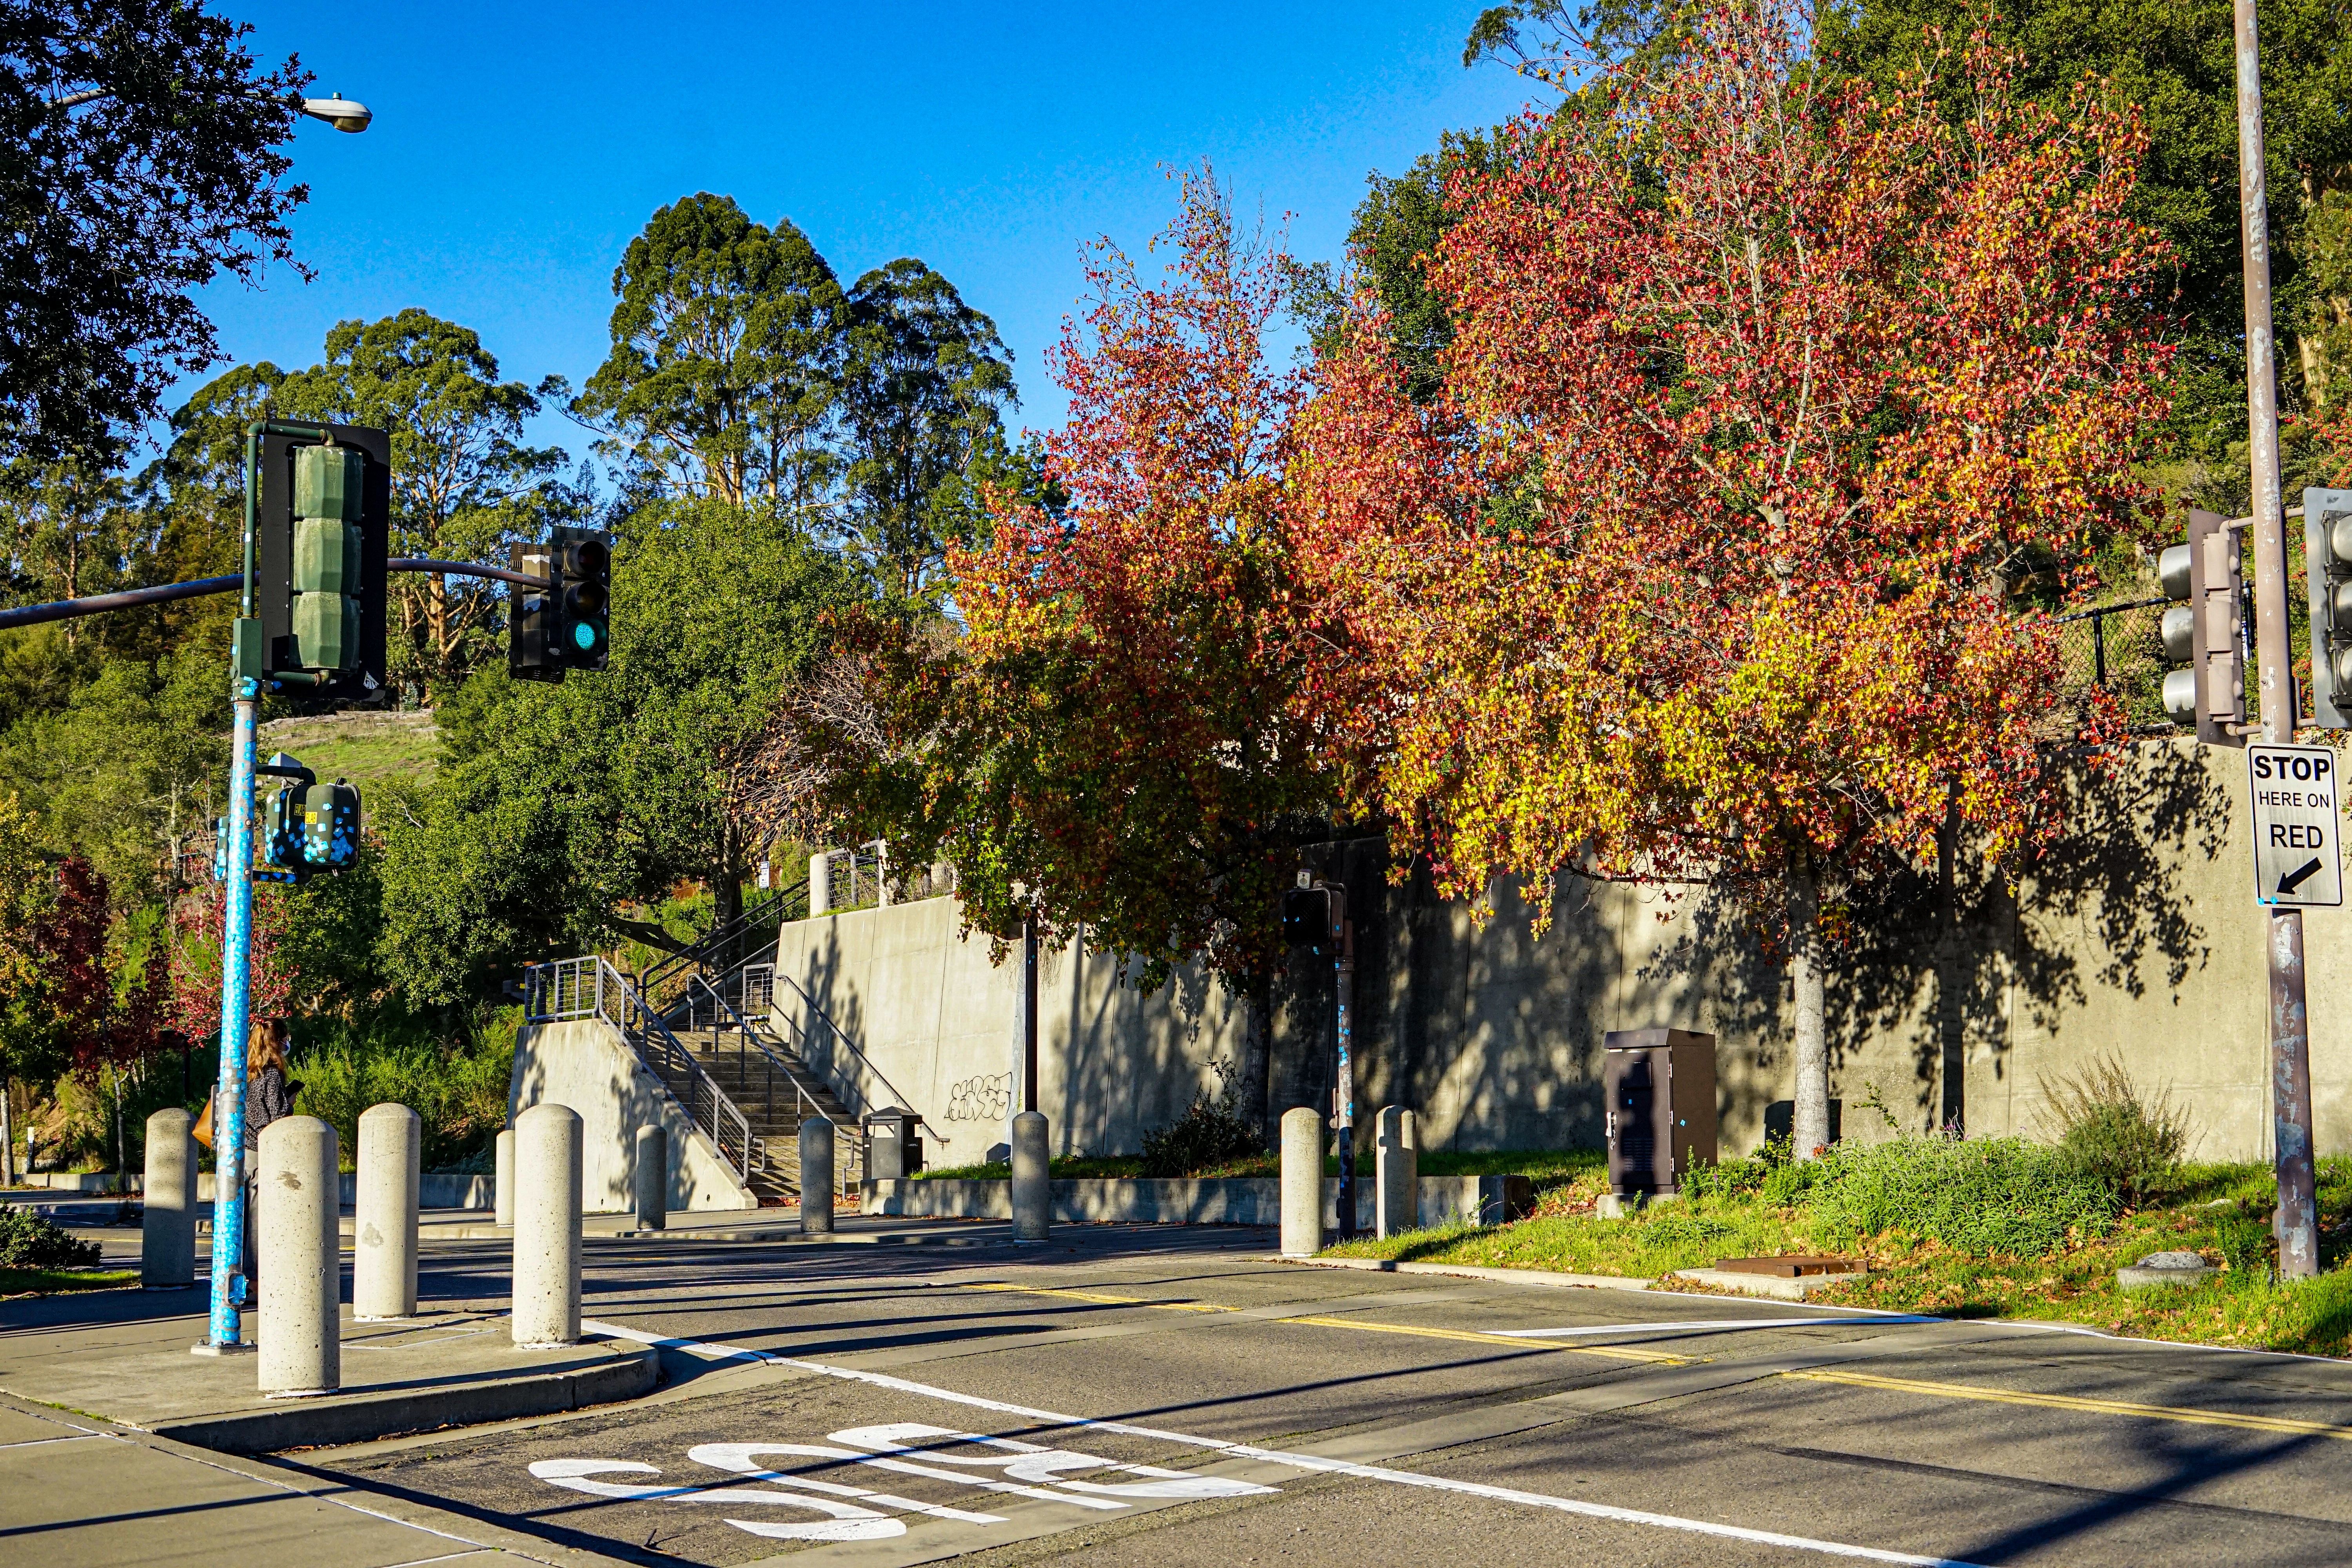
<svg viewBox="0 0 2352 1568"><path fill-rule="evenodd" d="M1900 1229L1978 1255L2046 1258L2070 1237L2105 1234L2117 1213L2114 1190L2072 1154L2023 1138L1839 1145L1813 1166L1806 1206L1832 1246Z"/></svg>

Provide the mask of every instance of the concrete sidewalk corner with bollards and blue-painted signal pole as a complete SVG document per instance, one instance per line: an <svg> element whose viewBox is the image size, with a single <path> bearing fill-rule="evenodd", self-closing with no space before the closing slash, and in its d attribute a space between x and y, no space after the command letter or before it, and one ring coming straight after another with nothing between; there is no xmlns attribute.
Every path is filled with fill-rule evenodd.
<svg viewBox="0 0 2352 1568"><path fill-rule="evenodd" d="M252 1356L188 1354L205 1338L202 1305L198 1291L12 1302L0 1392L202 1448L275 1453L640 1399L661 1375L654 1352L623 1340L517 1349L499 1312L355 1324L343 1307L341 1392L273 1399Z"/></svg>

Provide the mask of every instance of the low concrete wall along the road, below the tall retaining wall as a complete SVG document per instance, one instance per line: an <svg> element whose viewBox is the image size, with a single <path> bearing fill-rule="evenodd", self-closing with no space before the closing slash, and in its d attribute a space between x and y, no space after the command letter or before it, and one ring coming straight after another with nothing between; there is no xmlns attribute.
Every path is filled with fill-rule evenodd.
<svg viewBox="0 0 2352 1568"><path fill-rule="evenodd" d="M1371 1171L1355 1182L1357 1227L1374 1227ZM1423 1175L1423 1225L1501 1225L1529 1208L1524 1175ZM863 1213L924 1220L1009 1220L1009 1180L866 1182ZM1221 1180L1054 1182L1058 1225L1279 1225L1282 1182L1270 1175ZM1338 1178L1324 1180L1324 1225L1338 1227Z"/></svg>

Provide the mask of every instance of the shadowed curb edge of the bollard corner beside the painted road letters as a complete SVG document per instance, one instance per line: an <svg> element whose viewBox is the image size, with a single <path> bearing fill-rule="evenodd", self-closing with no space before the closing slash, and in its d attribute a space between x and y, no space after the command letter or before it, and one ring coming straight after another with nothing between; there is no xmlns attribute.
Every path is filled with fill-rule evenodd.
<svg viewBox="0 0 2352 1568"><path fill-rule="evenodd" d="M240 1410L146 1427L155 1436L216 1453L280 1453L285 1448L336 1448L381 1436L477 1427L524 1415L557 1415L581 1406L642 1399L661 1378L661 1352L612 1347L602 1366L562 1373L527 1373L437 1389L355 1394L350 1399L285 1403L275 1410Z"/></svg>

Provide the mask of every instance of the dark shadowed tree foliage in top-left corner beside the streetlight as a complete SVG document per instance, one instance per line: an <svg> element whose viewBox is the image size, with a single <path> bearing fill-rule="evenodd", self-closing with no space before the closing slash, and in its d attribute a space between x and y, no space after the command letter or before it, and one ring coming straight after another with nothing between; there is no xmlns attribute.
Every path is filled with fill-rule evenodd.
<svg viewBox="0 0 2352 1568"><path fill-rule="evenodd" d="M195 289L292 261L261 71L202 0L0 0L0 456L106 458L219 360Z"/></svg>

